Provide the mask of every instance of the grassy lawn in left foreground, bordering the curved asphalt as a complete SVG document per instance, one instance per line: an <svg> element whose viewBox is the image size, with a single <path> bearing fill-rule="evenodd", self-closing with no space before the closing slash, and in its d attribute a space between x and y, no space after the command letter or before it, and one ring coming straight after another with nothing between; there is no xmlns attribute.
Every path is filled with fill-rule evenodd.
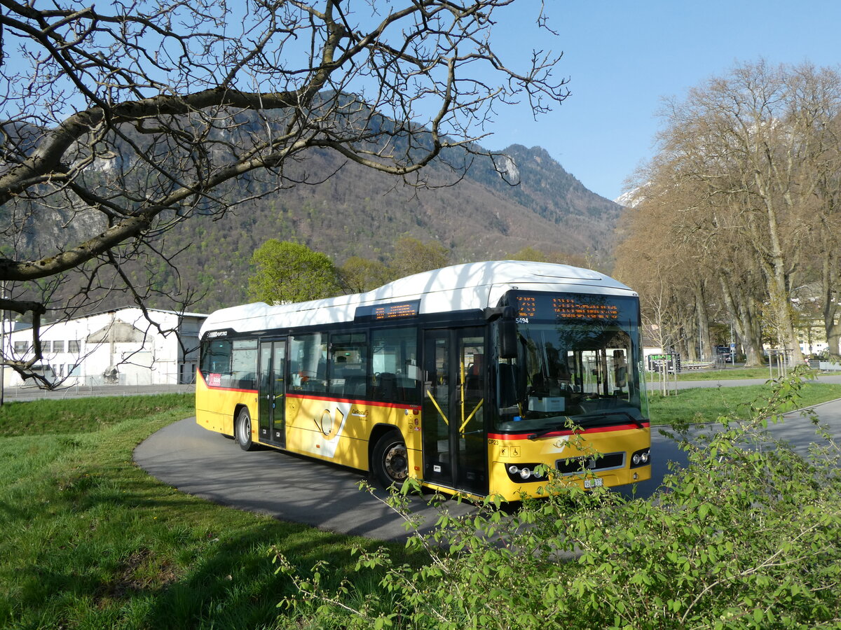
<svg viewBox="0 0 841 630"><path fill-rule="evenodd" d="M0 627L309 627L278 619L292 591L272 545L303 570L328 560L336 585L353 546L379 543L216 506L134 465L136 444L192 414L178 394L0 408Z"/></svg>

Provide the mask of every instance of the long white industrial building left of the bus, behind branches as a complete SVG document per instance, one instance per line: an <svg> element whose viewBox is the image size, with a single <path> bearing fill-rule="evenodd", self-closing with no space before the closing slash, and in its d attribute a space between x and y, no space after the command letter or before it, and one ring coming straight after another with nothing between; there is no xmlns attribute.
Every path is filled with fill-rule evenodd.
<svg viewBox="0 0 841 630"><path fill-rule="evenodd" d="M35 370L66 386L192 383L198 366L198 329L206 315L138 307L98 312L41 325L43 359ZM32 328L3 335L6 356L32 357ZM31 383L32 381L28 381ZM10 368L5 386L24 384Z"/></svg>

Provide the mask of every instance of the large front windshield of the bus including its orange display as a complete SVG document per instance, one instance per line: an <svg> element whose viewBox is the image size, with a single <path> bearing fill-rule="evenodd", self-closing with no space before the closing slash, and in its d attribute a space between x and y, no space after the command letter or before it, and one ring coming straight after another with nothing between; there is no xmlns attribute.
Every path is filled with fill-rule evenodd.
<svg viewBox="0 0 841 630"><path fill-rule="evenodd" d="M516 359L497 365L500 430L643 423L638 306L632 297L510 296Z"/></svg>

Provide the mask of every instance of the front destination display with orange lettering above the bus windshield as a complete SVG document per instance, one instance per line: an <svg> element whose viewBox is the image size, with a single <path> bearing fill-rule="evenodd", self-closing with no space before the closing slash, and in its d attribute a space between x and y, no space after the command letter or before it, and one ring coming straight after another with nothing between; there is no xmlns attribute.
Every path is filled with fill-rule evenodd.
<svg viewBox="0 0 841 630"><path fill-rule="evenodd" d="M632 308L630 312L629 308ZM616 322L619 319L636 318L635 301L627 297L590 295L585 293L546 294L516 296L517 318L530 320L584 320L587 322ZM623 315L623 312L625 313Z"/></svg>

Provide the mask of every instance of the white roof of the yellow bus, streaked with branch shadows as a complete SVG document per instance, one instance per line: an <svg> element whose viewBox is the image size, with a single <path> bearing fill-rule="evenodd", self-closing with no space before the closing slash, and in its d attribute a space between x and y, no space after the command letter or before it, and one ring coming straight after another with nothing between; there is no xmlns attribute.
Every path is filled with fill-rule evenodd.
<svg viewBox="0 0 841 630"><path fill-rule="evenodd" d="M265 302L223 308L205 320L200 336L211 330L237 332L297 328L352 322L357 307L389 302L420 301L420 314L484 309L497 306L511 289L633 296L637 293L598 271L569 265L493 260L452 265L400 278L367 293L330 297L312 302Z"/></svg>

